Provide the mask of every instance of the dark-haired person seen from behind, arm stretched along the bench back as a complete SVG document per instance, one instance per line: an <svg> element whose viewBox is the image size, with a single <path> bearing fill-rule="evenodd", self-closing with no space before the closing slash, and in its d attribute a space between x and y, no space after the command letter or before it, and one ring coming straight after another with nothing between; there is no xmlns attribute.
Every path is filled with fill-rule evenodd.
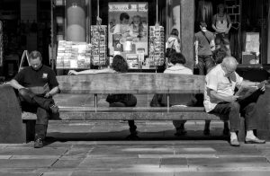
<svg viewBox="0 0 270 176"><path fill-rule="evenodd" d="M103 73L126 73L128 72L129 65L124 57L116 55L112 59L111 68L104 68L102 70L84 70L81 72L76 72L70 70L68 75L88 75L88 74L103 74ZM106 101L110 103L110 107L135 107L137 104L137 98L130 93L121 93L121 94L109 94L106 98ZM127 139L139 139L137 136L137 126L135 125L134 120L128 120L130 126L130 136L127 136Z"/></svg>

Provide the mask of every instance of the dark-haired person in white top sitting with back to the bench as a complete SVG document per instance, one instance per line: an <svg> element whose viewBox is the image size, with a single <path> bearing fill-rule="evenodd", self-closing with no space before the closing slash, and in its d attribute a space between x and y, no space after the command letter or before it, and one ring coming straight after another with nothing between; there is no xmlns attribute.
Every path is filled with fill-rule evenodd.
<svg viewBox="0 0 270 176"><path fill-rule="evenodd" d="M181 53L174 53L171 57L171 63L173 66L166 68L164 74L184 74L184 75L193 75L193 71L185 67L185 57ZM194 98L193 94L188 93L176 93L170 94L169 98L169 106L170 107L187 107L187 106L194 106L196 103L196 99ZM153 107L167 107L167 99L166 94L156 94L151 101L151 106ZM184 129L184 123L186 120L173 120L173 124L176 129L175 136L182 136L186 133Z"/></svg>

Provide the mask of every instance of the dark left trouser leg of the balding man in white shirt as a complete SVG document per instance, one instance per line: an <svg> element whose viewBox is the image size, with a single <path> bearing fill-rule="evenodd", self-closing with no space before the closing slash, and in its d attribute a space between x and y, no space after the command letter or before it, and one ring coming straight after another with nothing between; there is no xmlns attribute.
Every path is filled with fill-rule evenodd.
<svg viewBox="0 0 270 176"><path fill-rule="evenodd" d="M229 116L230 132L240 130L240 105L238 102L222 102L211 110L211 113Z"/></svg>

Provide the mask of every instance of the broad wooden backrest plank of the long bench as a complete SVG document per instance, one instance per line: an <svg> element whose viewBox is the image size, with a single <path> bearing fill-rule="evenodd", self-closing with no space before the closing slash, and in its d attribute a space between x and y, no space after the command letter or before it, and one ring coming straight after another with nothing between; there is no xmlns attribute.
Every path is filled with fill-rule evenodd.
<svg viewBox="0 0 270 176"><path fill-rule="evenodd" d="M98 74L57 77L63 93L199 93L203 75Z"/></svg>

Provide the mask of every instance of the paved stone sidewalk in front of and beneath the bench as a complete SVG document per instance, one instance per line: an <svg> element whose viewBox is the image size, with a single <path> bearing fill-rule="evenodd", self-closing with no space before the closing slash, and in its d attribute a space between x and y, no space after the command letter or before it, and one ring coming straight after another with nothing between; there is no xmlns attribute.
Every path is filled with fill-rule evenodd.
<svg viewBox="0 0 270 176"><path fill-rule="evenodd" d="M0 145L0 175L20 176L253 176L270 175L270 143L229 146L222 123L189 121L174 136L170 121L137 122L139 141L127 141L127 123L51 121L46 146Z"/></svg>

